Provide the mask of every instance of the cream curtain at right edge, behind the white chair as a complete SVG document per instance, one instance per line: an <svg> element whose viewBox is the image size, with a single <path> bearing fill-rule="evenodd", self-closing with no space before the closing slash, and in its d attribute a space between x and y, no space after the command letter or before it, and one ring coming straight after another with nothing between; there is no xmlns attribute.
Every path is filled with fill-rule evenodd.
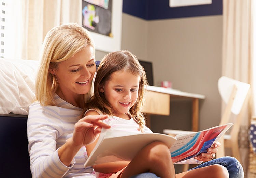
<svg viewBox="0 0 256 178"><path fill-rule="evenodd" d="M222 75L253 85L253 3L254 0L223 0ZM241 164L248 168L248 127L253 100L242 120L239 134Z"/></svg>

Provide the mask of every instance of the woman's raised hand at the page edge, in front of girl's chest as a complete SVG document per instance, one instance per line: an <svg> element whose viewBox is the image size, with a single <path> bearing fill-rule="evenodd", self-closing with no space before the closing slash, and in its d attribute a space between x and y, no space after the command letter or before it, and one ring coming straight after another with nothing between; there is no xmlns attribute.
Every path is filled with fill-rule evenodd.
<svg viewBox="0 0 256 178"><path fill-rule="evenodd" d="M72 137L73 146L82 147L93 143L99 136L101 128L110 128L109 125L102 122L106 118L108 115L88 115L75 123Z"/></svg>

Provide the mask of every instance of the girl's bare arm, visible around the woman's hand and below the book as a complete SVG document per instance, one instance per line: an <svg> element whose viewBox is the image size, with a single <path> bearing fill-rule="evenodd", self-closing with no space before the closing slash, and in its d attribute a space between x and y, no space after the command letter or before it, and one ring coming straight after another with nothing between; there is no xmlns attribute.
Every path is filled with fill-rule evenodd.
<svg viewBox="0 0 256 178"><path fill-rule="evenodd" d="M90 110L85 115L86 116L99 115L99 113L94 110ZM90 156L90 153L91 151L93 151L97 142L98 142L98 138L96 139L95 142L85 146L88 157ZM121 169L123 169L124 167L126 167L129 163L130 163L129 161L109 162L109 163L94 165L93 168L96 172L100 172L100 173L116 173Z"/></svg>

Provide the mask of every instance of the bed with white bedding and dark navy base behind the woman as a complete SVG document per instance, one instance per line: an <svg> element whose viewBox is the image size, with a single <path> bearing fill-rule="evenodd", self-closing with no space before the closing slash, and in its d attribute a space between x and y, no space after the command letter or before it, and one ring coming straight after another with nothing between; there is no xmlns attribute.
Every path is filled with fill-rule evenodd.
<svg viewBox="0 0 256 178"><path fill-rule="evenodd" d="M38 66L33 60L0 60L1 177L31 177L27 115Z"/></svg>

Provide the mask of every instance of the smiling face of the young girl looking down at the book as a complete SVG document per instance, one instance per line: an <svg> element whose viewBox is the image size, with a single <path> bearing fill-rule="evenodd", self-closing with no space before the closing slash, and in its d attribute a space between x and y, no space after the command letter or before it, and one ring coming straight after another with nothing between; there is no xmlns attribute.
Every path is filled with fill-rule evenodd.
<svg viewBox="0 0 256 178"><path fill-rule="evenodd" d="M100 92L113 108L114 116L127 118L126 113L138 98L140 76L129 71L113 72L108 81L100 87Z"/></svg>

